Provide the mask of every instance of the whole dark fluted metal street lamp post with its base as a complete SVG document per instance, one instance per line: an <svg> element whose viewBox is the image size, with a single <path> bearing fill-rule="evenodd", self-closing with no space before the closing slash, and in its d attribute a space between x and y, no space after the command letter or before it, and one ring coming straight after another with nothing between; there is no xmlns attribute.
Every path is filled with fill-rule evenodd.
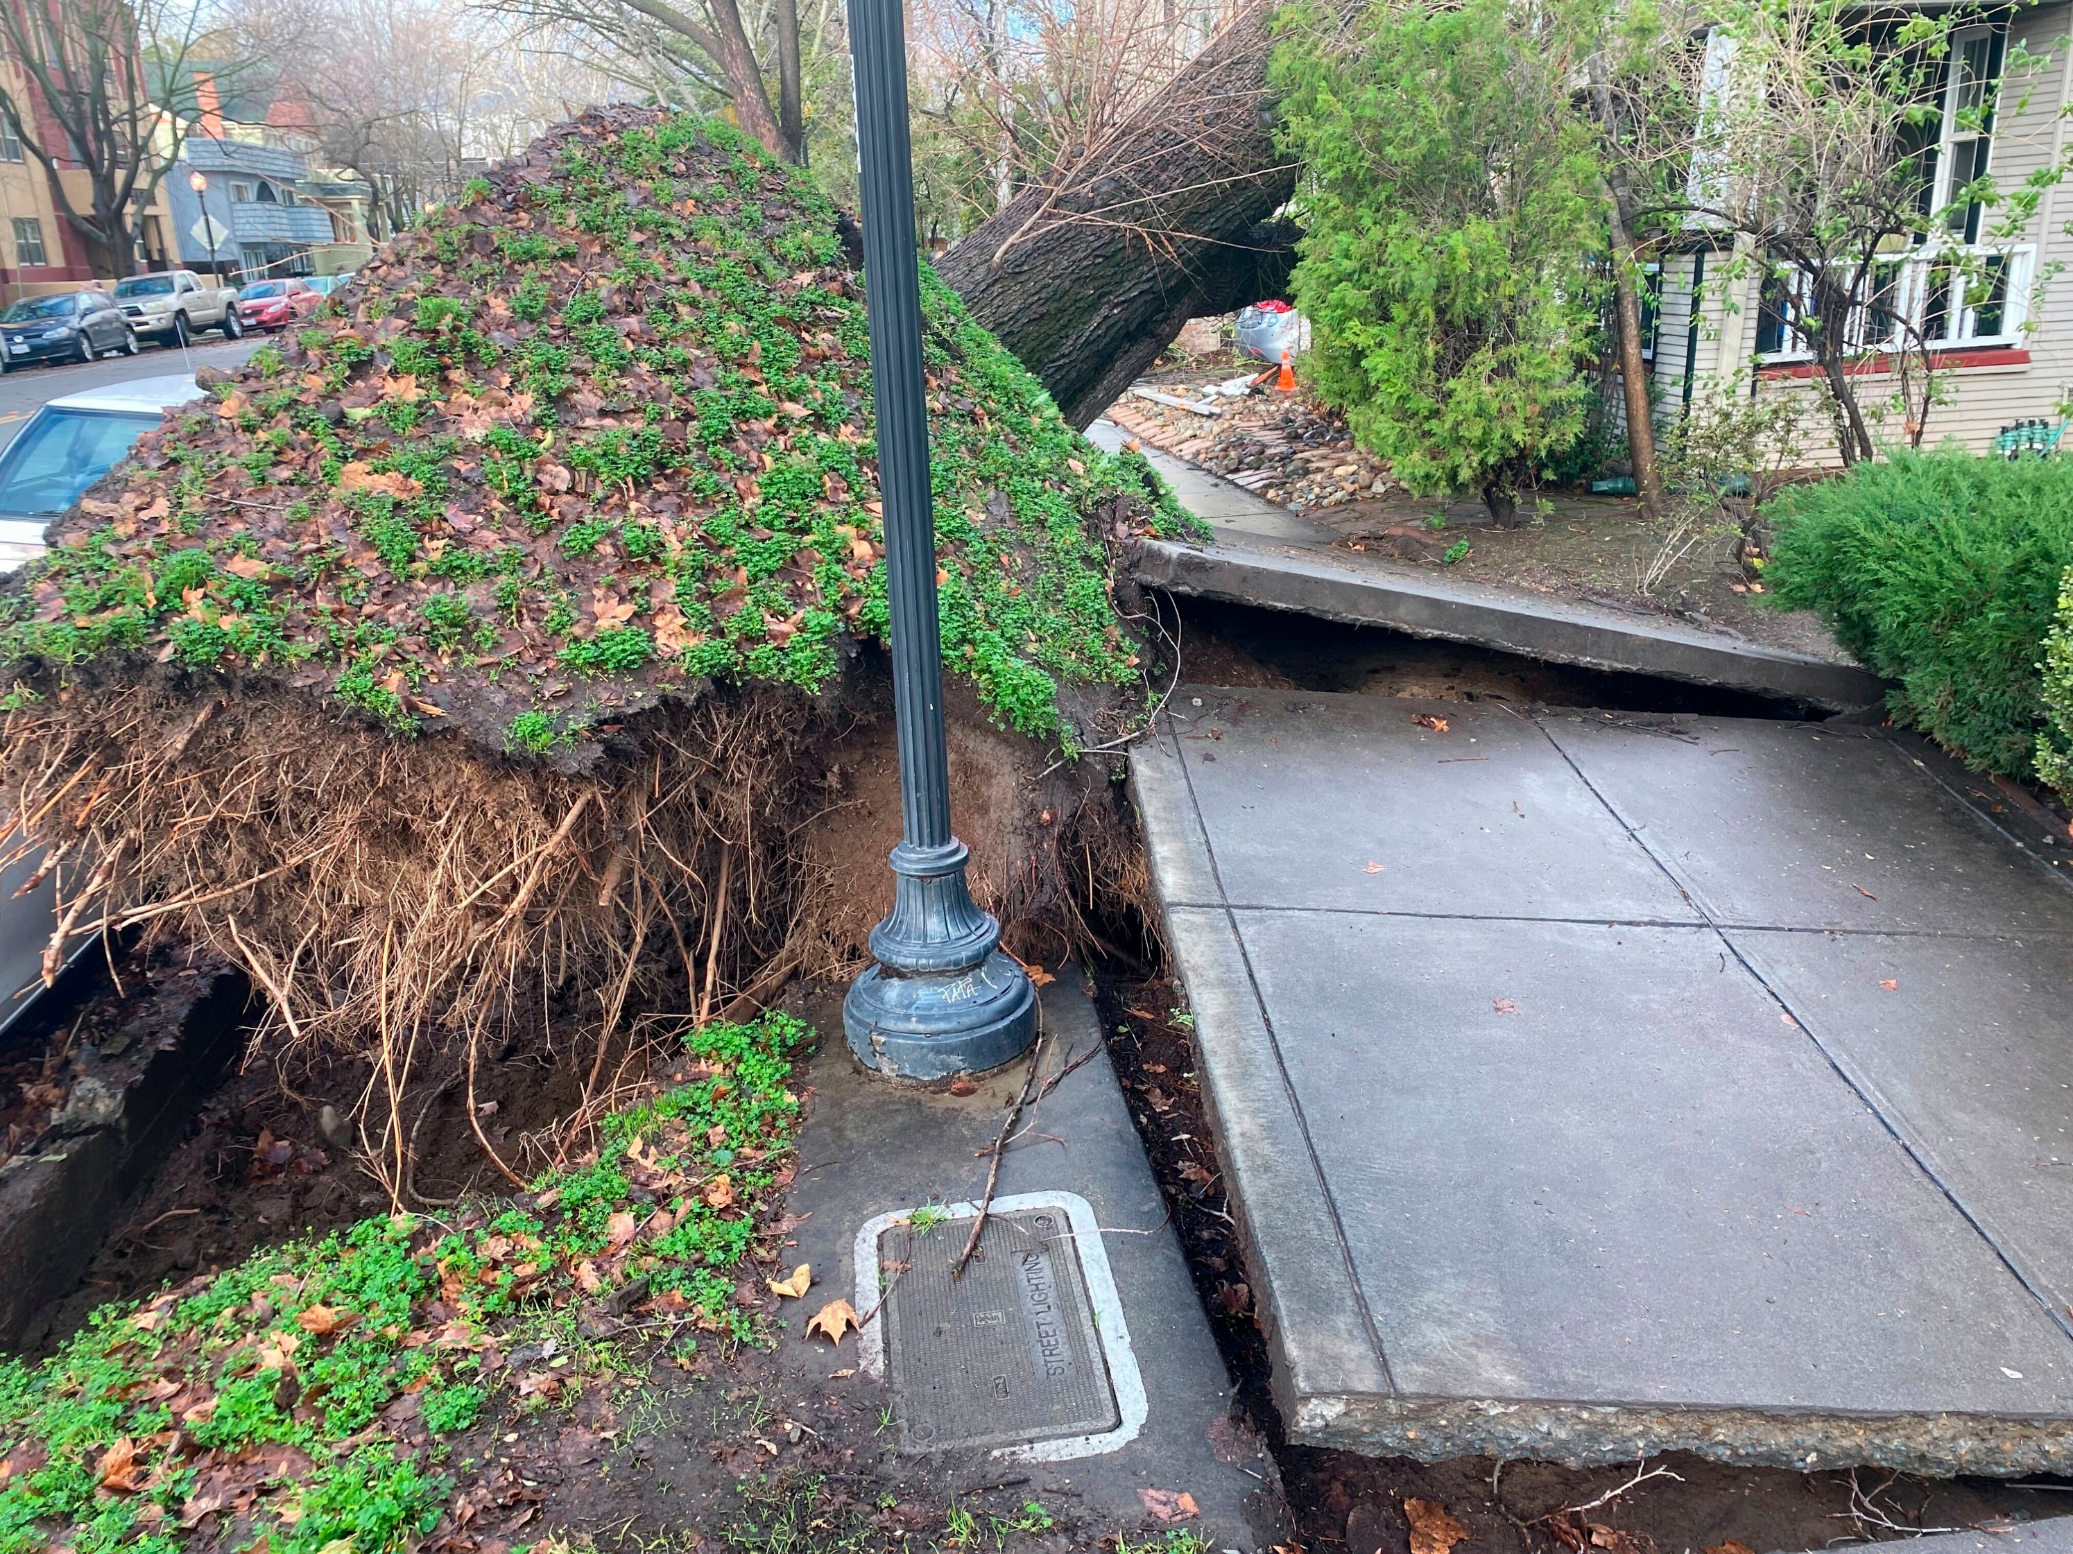
<svg viewBox="0 0 2073 1554"><path fill-rule="evenodd" d="M867 1067L947 1080L1026 1051L1036 990L1001 953L1001 924L972 901L966 847L949 831L902 0L850 0L850 54L904 825L891 854L893 910L871 930L877 966L850 986L842 1024Z"/></svg>

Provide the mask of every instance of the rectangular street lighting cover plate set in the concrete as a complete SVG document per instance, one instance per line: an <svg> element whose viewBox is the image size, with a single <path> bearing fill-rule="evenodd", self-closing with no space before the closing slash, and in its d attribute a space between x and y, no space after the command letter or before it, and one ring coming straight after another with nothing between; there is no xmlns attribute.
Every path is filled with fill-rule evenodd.
<svg viewBox="0 0 2073 1554"><path fill-rule="evenodd" d="M962 1278L958 1220L879 1237L887 1374L900 1448L1007 1446L1099 1436L1121 1415L1086 1299L1086 1276L1055 1208L993 1214ZM906 1264L906 1272L900 1272Z"/></svg>

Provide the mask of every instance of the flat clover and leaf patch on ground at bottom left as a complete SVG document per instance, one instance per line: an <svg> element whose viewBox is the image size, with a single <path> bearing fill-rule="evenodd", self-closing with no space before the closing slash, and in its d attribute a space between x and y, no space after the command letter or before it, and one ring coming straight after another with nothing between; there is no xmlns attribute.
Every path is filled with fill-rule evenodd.
<svg viewBox="0 0 2073 1554"><path fill-rule="evenodd" d="M369 1218L0 1363L0 1554L386 1554L450 1515L452 1438L556 1312L638 1280L653 1316L759 1339L734 1280L790 1181L808 1038L779 1013L709 1026L684 1084L502 1212Z"/></svg>

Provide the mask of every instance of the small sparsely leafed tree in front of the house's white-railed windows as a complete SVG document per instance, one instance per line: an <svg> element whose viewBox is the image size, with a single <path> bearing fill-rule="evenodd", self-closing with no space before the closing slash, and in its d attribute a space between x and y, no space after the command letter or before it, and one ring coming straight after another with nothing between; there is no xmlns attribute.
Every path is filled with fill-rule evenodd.
<svg viewBox="0 0 2073 1554"><path fill-rule="evenodd" d="M1714 0L1660 15L1673 46L1629 50L1611 83L1640 126L1652 218L1731 238L1714 284L1758 282L1781 348L1812 358L1845 464L1876 452L1868 367L1891 369L1891 408L1920 445L1951 298L2015 300L2005 247L2067 168L2046 157L2003 189L1982 164L1959 166L1996 114L2023 108L2042 58L2009 39L1996 70L1992 33L1967 33L1988 12L1969 8ZM1692 37L1704 50L1677 46Z"/></svg>

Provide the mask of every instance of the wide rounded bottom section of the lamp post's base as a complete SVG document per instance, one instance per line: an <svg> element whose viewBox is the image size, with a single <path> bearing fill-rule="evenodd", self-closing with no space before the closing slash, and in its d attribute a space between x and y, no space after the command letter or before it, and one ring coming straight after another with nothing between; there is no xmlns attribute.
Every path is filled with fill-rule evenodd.
<svg viewBox="0 0 2073 1554"><path fill-rule="evenodd" d="M842 1028L856 1061L889 1080L985 1073L1036 1038L1036 988L999 949L962 972L871 966L842 1001Z"/></svg>

